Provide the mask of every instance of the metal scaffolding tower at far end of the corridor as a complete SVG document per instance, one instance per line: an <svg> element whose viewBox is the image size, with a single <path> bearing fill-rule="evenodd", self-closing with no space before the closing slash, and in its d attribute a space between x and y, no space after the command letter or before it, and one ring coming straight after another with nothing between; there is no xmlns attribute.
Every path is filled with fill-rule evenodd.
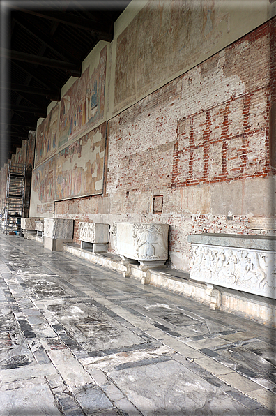
<svg viewBox="0 0 276 416"><path fill-rule="evenodd" d="M1 212L1 228L7 235L20 231L25 188L25 164L9 163L6 185L6 200Z"/></svg>

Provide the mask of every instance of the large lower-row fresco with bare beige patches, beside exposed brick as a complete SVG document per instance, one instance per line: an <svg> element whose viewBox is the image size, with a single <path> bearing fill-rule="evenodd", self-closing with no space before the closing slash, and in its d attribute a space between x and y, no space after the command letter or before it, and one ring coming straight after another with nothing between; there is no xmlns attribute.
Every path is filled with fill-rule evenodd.
<svg viewBox="0 0 276 416"><path fill-rule="evenodd" d="M104 123L59 152L56 200L102 193L105 130Z"/></svg>

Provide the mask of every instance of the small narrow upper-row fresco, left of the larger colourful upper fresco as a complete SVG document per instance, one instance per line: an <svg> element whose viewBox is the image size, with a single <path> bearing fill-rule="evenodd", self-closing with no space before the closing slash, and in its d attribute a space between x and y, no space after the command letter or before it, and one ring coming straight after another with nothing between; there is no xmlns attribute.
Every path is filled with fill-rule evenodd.
<svg viewBox="0 0 276 416"><path fill-rule="evenodd" d="M56 150L56 134L59 121L59 103L38 126L36 135L35 165L44 161Z"/></svg>

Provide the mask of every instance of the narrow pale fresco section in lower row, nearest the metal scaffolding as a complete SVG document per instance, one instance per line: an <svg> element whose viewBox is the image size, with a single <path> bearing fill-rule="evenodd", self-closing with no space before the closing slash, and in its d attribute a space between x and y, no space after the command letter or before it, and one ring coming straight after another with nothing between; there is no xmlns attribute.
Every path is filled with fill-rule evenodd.
<svg viewBox="0 0 276 416"><path fill-rule="evenodd" d="M56 158L55 155L33 170L29 216L54 216Z"/></svg>

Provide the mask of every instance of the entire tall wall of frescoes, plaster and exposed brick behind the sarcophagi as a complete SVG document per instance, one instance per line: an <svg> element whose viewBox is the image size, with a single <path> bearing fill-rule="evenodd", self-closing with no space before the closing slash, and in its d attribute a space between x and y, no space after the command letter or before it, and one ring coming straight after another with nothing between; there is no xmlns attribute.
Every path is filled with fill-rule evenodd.
<svg viewBox="0 0 276 416"><path fill-rule="evenodd" d="M275 214L273 14L268 0L132 1L40 120L30 216L75 219L76 242L79 221L169 223L169 262L183 270L192 232L259 233L250 218ZM59 155L106 121L102 186L56 193ZM90 180L87 154L66 157L65 180Z"/></svg>

